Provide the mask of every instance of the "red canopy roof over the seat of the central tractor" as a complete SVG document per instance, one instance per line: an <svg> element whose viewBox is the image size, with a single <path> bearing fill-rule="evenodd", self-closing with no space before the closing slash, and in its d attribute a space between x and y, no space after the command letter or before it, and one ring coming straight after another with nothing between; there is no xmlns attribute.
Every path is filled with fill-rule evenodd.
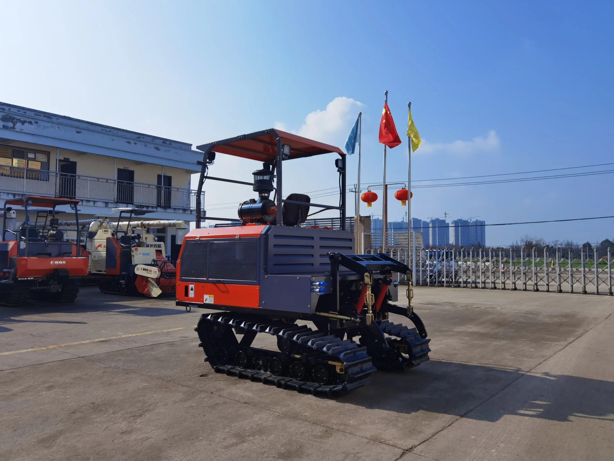
<svg viewBox="0 0 614 461"><path fill-rule="evenodd" d="M320 154L330 154L332 152L336 152L340 156L345 155L340 148L335 146L309 140L308 138L303 138L303 136L282 132L274 128L250 133L249 135L228 138L227 140L215 141L214 143L201 144L196 146L196 149L204 152L211 147L211 151L219 152L220 154L266 162L267 160L273 160L277 156L276 138L278 136L283 144L290 145L290 159L319 156Z"/></svg>

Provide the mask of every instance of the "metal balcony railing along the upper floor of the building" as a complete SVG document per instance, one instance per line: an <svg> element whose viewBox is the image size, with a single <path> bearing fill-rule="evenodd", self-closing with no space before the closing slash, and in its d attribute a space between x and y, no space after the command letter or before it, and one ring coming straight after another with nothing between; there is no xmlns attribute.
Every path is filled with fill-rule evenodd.
<svg viewBox="0 0 614 461"><path fill-rule="evenodd" d="M56 171L0 167L0 192L194 211L196 191ZM201 195L204 203L204 192Z"/></svg>

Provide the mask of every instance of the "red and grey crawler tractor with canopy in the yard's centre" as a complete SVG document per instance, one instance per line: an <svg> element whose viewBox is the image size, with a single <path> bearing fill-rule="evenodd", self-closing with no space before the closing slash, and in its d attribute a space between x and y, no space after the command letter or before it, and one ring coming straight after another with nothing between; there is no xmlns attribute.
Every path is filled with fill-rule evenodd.
<svg viewBox="0 0 614 461"><path fill-rule="evenodd" d="M220 218L197 216L177 264L177 305L207 309L196 332L216 372L330 396L366 384L376 369L429 360L430 339L411 304L409 267L386 254L354 254L354 235L345 229L346 156L340 149L276 129L198 149L196 200L206 179L249 184L258 194L239 205L237 226L203 228L203 219ZM253 183L212 178L216 152L257 160L262 168ZM329 153L340 156L340 206L311 203L303 194L282 198L284 161ZM341 229L301 226L311 207L338 210ZM406 306L394 304L395 274L408 281ZM391 312L413 327L392 323ZM273 336L278 350L252 347L258 333Z"/></svg>

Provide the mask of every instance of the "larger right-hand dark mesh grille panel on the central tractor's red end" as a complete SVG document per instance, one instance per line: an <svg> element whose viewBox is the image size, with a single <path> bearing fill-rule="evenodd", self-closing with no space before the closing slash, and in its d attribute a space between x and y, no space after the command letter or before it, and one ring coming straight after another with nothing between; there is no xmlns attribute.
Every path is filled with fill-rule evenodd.
<svg viewBox="0 0 614 461"><path fill-rule="evenodd" d="M209 242L209 278L256 282L258 240Z"/></svg>

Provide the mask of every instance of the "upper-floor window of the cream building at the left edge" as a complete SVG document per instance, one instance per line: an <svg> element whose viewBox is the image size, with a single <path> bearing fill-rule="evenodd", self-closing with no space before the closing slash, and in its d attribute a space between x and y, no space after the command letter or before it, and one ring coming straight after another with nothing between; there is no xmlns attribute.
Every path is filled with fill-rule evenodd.
<svg viewBox="0 0 614 461"><path fill-rule="evenodd" d="M0 145L0 175L49 181L49 152Z"/></svg>

